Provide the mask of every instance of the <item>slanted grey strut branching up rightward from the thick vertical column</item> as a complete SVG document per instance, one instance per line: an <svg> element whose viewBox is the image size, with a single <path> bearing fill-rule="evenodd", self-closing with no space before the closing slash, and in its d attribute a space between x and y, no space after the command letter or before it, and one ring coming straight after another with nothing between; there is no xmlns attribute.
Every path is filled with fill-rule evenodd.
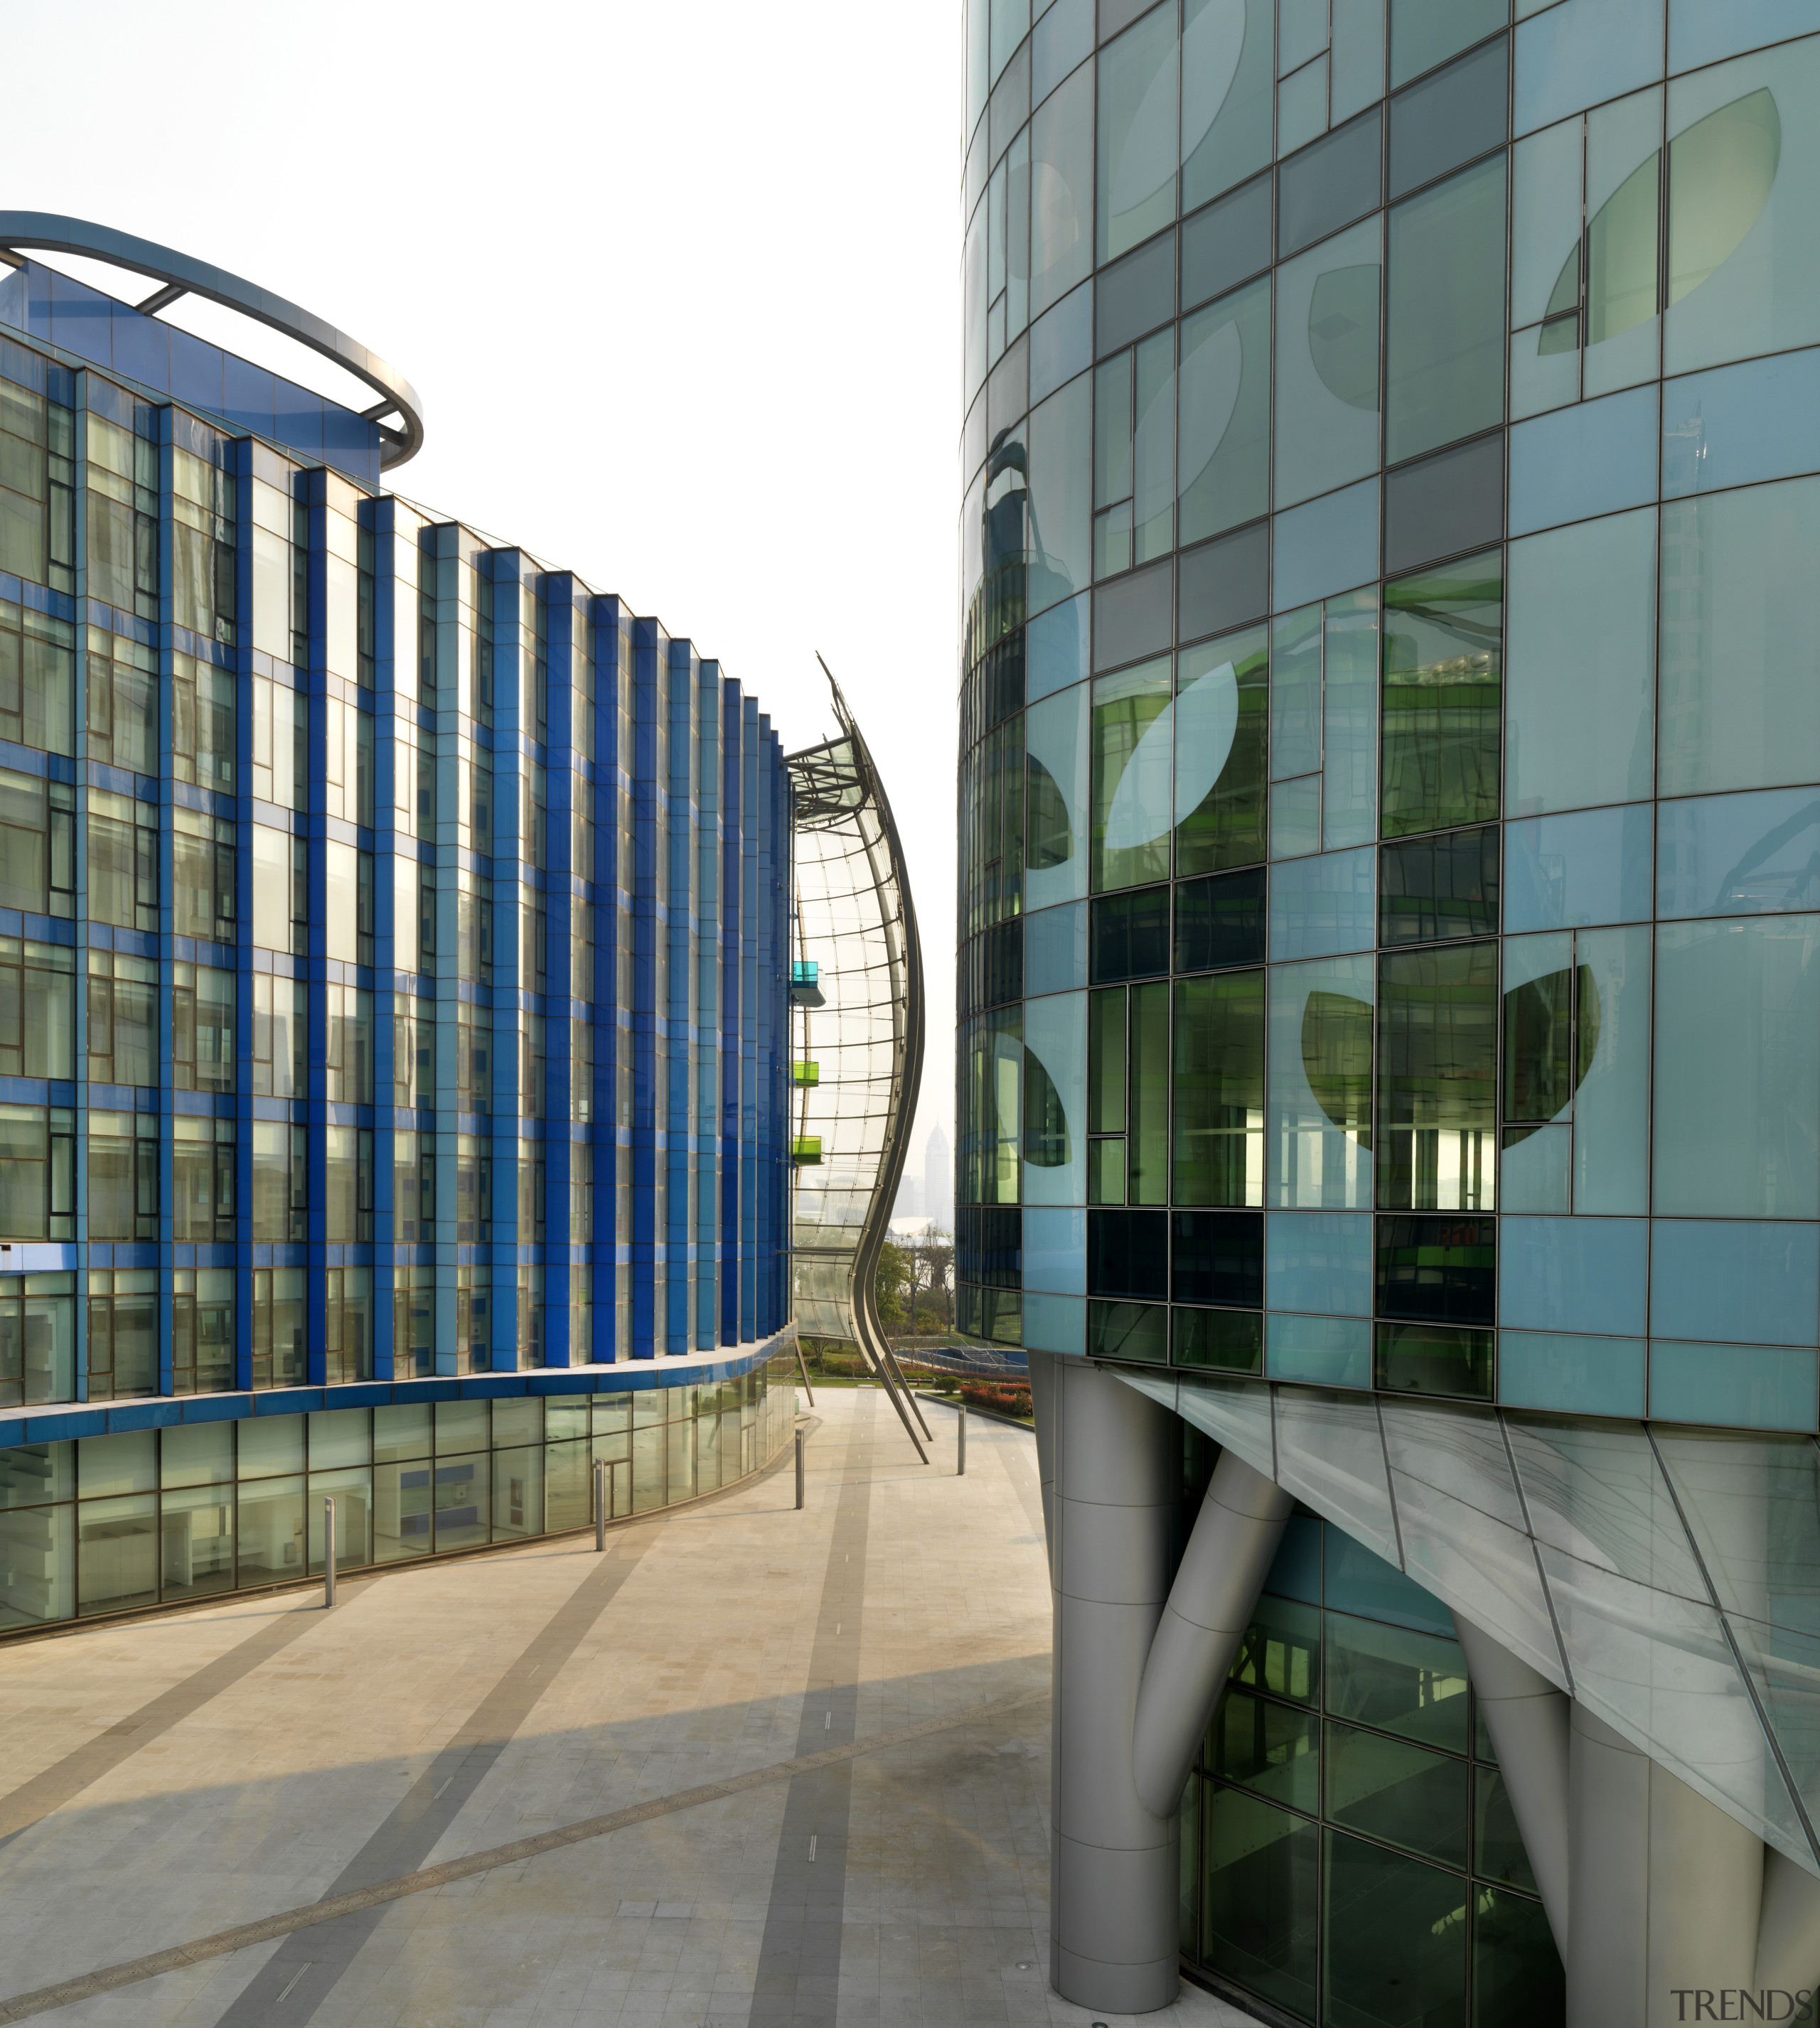
<svg viewBox="0 0 1820 2028"><path fill-rule="evenodd" d="M1138 1797L1157 1815L1181 1807L1232 1659L1258 1606L1294 1497L1226 1450L1195 1515L1163 1624L1150 1643L1132 1738Z"/></svg>

